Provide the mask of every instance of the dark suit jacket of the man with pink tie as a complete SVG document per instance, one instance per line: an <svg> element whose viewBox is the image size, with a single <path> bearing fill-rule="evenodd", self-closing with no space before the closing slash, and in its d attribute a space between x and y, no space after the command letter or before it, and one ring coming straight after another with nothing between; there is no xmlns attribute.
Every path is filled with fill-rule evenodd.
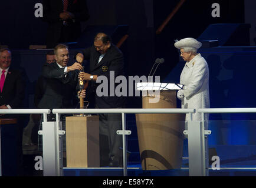
<svg viewBox="0 0 256 188"><path fill-rule="evenodd" d="M0 94L0 106L9 105L12 109L22 108L25 95L25 80L19 70L9 68L4 88Z"/></svg>

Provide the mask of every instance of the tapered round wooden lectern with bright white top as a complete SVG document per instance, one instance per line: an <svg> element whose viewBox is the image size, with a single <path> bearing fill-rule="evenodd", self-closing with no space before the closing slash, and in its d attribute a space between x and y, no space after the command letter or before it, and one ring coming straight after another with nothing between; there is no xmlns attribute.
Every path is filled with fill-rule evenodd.
<svg viewBox="0 0 256 188"><path fill-rule="evenodd" d="M165 85L164 83L160 84ZM146 87L137 86L137 89L151 90L149 85L146 83ZM153 99L155 96L143 96L142 108L176 108L176 91L180 89L178 86L170 84L170 88L167 89L166 87L152 88L152 90L156 89L159 89L160 92L159 102L150 103L149 99ZM184 121L185 115L178 113L136 114L143 170L180 169Z"/></svg>

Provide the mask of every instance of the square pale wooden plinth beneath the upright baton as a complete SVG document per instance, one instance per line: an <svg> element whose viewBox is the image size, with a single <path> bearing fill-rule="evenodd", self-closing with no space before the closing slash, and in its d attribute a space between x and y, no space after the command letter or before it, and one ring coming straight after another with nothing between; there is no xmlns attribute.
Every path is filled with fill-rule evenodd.
<svg viewBox="0 0 256 188"><path fill-rule="evenodd" d="M99 116L66 117L67 167L99 167Z"/></svg>

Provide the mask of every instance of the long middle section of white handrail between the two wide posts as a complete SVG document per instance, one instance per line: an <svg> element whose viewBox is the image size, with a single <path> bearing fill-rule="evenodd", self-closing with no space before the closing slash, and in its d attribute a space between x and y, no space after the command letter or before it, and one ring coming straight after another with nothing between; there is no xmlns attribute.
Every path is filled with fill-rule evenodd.
<svg viewBox="0 0 256 188"><path fill-rule="evenodd" d="M195 113L195 109L52 109L52 113Z"/></svg>

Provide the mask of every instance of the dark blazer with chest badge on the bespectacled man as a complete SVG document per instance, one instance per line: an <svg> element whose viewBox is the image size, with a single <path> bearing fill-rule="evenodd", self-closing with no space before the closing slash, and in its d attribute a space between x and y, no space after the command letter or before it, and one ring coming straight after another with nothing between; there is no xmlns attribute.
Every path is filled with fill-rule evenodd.
<svg viewBox="0 0 256 188"><path fill-rule="evenodd" d="M96 51L94 46L84 49L81 53L83 53L84 59L90 60L90 74L104 75L109 81L110 71L114 71L114 78L124 75L123 53L115 45L111 44L99 63L100 53ZM125 98L123 96L110 96L110 92L114 92L114 90L110 90L110 82L108 83L108 96L97 96L96 88L99 85L100 83L91 81L90 87L87 89L89 92L94 92L95 103L99 108L120 108L124 106Z"/></svg>

